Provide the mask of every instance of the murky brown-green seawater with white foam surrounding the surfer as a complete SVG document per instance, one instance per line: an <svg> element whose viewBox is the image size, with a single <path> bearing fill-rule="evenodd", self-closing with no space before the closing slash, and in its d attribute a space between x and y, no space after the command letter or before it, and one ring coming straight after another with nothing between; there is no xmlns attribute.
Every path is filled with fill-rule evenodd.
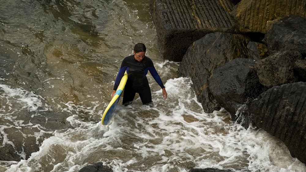
<svg viewBox="0 0 306 172"><path fill-rule="evenodd" d="M177 73L179 63L160 57L147 1L1 4L1 149L12 146L24 160L0 161L0 171L73 172L96 162L114 171L306 171L265 131L244 129L223 109L203 112L190 79ZM156 106L136 96L103 126L121 60L138 42L147 46L168 98L148 74ZM39 151L26 157L17 139L41 143Z"/></svg>

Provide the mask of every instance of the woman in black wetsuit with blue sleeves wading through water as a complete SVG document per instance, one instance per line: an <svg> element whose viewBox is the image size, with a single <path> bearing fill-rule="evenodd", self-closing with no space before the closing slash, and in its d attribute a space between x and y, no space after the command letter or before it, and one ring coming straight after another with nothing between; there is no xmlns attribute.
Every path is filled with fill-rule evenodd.
<svg viewBox="0 0 306 172"><path fill-rule="evenodd" d="M149 105L151 107L153 106L151 89L146 76L148 71L150 71L155 81L162 88L162 96L164 100L167 98L165 86L162 83L162 80L160 79L152 60L145 56L145 53L146 46L143 43L137 43L134 46L133 55L125 57L121 63L120 70L115 80L112 98L114 97L121 78L126 71L128 74L128 79L123 92L122 104L124 106L132 103L136 93L139 94L142 104Z"/></svg>

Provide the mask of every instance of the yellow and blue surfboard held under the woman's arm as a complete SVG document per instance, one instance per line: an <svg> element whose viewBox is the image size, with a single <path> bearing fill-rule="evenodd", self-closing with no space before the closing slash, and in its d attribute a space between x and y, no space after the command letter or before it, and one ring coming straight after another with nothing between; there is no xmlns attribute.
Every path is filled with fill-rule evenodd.
<svg viewBox="0 0 306 172"><path fill-rule="evenodd" d="M122 91L125 87L125 84L126 84L127 80L128 80L128 74L125 71L124 75L121 78L121 81L119 83L119 86L116 90L116 93L115 93L114 97L112 98L110 103L107 105L107 107L106 107L106 109L103 113L103 116L102 116L102 119L101 119L102 125L107 125L108 123L110 123L110 120L112 119L112 117L114 115L114 112L117 108L121 93L122 93Z"/></svg>

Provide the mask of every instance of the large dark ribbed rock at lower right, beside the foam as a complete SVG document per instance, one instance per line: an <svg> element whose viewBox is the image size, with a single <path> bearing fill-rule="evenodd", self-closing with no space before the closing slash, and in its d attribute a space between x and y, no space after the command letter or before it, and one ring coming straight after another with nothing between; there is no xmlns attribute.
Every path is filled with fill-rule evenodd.
<svg viewBox="0 0 306 172"><path fill-rule="evenodd" d="M249 106L256 126L280 138L291 155L306 163L306 83L274 86Z"/></svg>

